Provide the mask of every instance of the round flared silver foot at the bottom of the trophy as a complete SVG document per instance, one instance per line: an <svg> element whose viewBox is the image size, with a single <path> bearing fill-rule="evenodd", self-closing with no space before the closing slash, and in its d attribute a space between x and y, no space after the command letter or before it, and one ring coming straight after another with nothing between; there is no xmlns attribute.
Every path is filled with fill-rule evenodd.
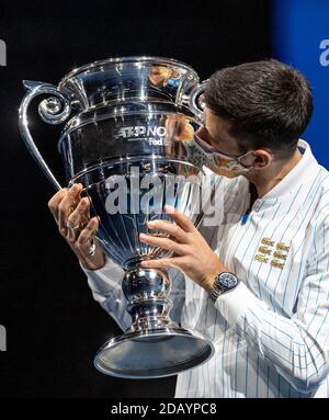
<svg viewBox="0 0 329 420"><path fill-rule="evenodd" d="M166 328L126 332L109 340L95 355L94 366L110 376L150 379L201 365L214 351L202 336L170 322Z"/></svg>

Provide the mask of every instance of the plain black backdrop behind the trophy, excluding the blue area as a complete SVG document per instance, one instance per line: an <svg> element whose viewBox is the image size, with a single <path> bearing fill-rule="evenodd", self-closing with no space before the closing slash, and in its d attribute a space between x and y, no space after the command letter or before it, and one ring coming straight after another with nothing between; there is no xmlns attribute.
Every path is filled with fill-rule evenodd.
<svg viewBox="0 0 329 420"><path fill-rule="evenodd" d="M0 396L172 397L175 377L123 381L92 366L99 345L120 332L92 299L47 201L52 186L18 129L22 79L57 84L69 70L110 56L157 55L216 69L271 56L264 0L1 1L0 38ZM31 113L32 114L32 113ZM60 173L59 128L32 118L32 132Z"/></svg>

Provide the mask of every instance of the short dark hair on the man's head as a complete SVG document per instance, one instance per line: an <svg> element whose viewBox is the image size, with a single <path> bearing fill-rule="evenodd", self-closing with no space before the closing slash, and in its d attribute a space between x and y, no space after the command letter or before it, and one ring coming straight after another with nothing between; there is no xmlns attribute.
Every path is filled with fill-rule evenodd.
<svg viewBox="0 0 329 420"><path fill-rule="evenodd" d="M269 148L291 156L313 113L311 89L293 67L274 59L246 63L216 71L204 101L231 123L241 152Z"/></svg>

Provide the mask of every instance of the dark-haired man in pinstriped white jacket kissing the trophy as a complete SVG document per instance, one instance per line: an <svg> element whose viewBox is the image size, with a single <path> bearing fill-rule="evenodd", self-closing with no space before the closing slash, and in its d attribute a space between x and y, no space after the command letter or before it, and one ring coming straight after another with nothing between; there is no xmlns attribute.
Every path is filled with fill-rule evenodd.
<svg viewBox="0 0 329 420"><path fill-rule="evenodd" d="M170 239L140 238L174 252L143 265L169 268L171 297L178 303L185 290L175 316L216 348L207 363L178 375L175 396L327 397L329 177L298 140L313 112L309 86L297 70L263 60L217 71L204 98L196 141L212 154L223 223L197 231L175 212L177 226L149 225ZM70 228L88 216L86 198L70 213L80 189L59 191L49 207L94 298L125 329L122 269L100 248L88 253L98 220L80 235Z"/></svg>

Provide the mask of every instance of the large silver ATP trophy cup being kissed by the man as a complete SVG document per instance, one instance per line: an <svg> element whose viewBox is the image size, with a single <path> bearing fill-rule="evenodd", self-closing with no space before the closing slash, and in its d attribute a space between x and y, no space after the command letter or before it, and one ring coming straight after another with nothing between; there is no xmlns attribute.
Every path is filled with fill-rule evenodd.
<svg viewBox="0 0 329 420"><path fill-rule="evenodd" d="M144 259L170 257L139 241L139 232L159 235L147 228L147 220L172 222L164 204L184 212L195 225L202 218L195 209L202 159L200 164L190 159L194 132L202 124L203 86L196 72L173 59L125 57L78 68L58 87L34 81L24 86L20 129L29 150L59 189L29 130L30 103L47 95L38 105L42 120L66 122L58 149L67 185L83 185L81 195L100 217L97 240L125 270L122 287L133 323L100 349L95 367L112 376L155 378L206 362L214 353L211 341L169 318L167 272L139 265ZM120 184L127 200L115 213L113 194ZM152 189L151 197L146 197L145 185Z"/></svg>

